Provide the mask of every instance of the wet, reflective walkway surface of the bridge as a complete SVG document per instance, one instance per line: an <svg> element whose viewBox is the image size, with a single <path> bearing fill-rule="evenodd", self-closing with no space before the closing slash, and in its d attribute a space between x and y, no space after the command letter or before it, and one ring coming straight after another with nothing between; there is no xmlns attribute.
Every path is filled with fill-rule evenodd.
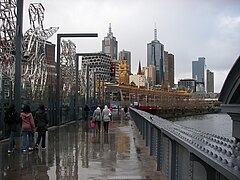
<svg viewBox="0 0 240 180"><path fill-rule="evenodd" d="M97 133L83 121L50 128L46 150L23 153L20 137L7 154L0 142L0 179L143 180L164 179L131 119L113 112L110 132Z"/></svg>

